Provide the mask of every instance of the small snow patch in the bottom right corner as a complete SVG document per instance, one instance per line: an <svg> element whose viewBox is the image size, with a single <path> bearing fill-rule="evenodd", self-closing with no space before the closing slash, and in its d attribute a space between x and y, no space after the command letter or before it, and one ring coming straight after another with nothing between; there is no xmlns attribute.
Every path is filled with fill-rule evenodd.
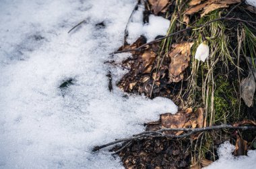
<svg viewBox="0 0 256 169"><path fill-rule="evenodd" d="M205 169L254 169L256 160L256 151L249 150L248 156L238 156L234 157L232 152L234 152L235 147L229 142L224 142L218 148L219 160L213 162L210 166L205 167Z"/></svg>

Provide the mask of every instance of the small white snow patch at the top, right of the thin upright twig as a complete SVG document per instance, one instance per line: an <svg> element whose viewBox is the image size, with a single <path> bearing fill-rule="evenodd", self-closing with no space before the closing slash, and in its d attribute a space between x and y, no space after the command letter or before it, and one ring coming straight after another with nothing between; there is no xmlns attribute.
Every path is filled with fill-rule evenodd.
<svg viewBox="0 0 256 169"><path fill-rule="evenodd" d="M139 6L131 17L131 22L127 26L129 36L127 42L132 44L139 36L146 36L147 42L154 40L157 36L165 36L170 21L164 17L150 15L148 23L143 24L143 6Z"/></svg>

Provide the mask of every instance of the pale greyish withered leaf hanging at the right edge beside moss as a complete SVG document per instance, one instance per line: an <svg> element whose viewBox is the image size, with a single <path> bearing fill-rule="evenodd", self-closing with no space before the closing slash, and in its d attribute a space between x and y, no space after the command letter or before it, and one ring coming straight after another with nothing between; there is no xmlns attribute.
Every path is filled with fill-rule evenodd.
<svg viewBox="0 0 256 169"><path fill-rule="evenodd" d="M255 87L255 79L252 72L250 72L247 78L244 78L241 82L242 98L248 107L253 106Z"/></svg>

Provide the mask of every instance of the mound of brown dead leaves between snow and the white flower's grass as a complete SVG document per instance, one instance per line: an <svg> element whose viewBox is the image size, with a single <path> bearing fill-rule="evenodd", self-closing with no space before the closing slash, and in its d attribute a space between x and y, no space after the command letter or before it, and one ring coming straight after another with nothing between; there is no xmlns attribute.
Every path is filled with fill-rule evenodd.
<svg viewBox="0 0 256 169"><path fill-rule="evenodd" d="M170 97L172 82L180 82L185 78L185 70L191 60L193 43L181 42L173 44L164 58L158 55L159 43L149 45L145 50L137 51L137 47L146 43L141 36L131 46L126 45L119 50L133 49L132 58L124 60L122 66L129 70L119 81L118 86L125 92L144 93L148 97Z"/></svg>

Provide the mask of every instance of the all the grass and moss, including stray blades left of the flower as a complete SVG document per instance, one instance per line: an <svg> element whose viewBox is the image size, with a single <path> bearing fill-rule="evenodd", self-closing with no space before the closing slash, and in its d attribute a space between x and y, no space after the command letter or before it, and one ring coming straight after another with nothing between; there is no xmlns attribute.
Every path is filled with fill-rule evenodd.
<svg viewBox="0 0 256 169"><path fill-rule="evenodd" d="M176 7L170 19L168 34L177 32L179 28L177 23L182 20L178 15L183 10L180 1L176 1ZM184 6L183 6L184 7ZM212 11L204 17L195 17L191 25L201 25L207 21L212 21L221 17L223 10ZM199 18L199 19L198 19ZM221 123L234 123L242 119L241 105L241 72L243 69L239 65L241 57L240 51L244 56L252 58L253 68L256 68L254 58L256 56L256 36L247 25L237 26L236 30L243 32L241 41L230 36L233 30L222 21L214 21L210 25L197 27L192 30L189 41L193 41L191 48L190 74L187 77L187 89L183 91L181 98L187 97L187 107L203 107L205 109L206 125L212 126ZM227 34L229 33L229 34ZM231 38L230 38L231 37ZM241 38L240 37L240 38ZM180 42L183 38L171 37L162 40L160 51L158 52L158 69L162 66L164 57L167 56L172 42ZM197 46L203 41L207 41L210 46L210 56L206 62L195 60L195 51ZM232 41L232 43L230 43ZM238 51L238 52L237 52ZM236 53L237 52L237 53ZM243 65L243 68L245 66ZM157 73L156 73L157 74ZM237 76L234 76L236 74ZM153 84L154 86L154 84ZM216 160L216 147L214 147L214 135L220 139L230 137L229 131L202 133L195 142L191 142L191 162L197 162L197 159L205 158L205 153L212 154L210 160Z"/></svg>

